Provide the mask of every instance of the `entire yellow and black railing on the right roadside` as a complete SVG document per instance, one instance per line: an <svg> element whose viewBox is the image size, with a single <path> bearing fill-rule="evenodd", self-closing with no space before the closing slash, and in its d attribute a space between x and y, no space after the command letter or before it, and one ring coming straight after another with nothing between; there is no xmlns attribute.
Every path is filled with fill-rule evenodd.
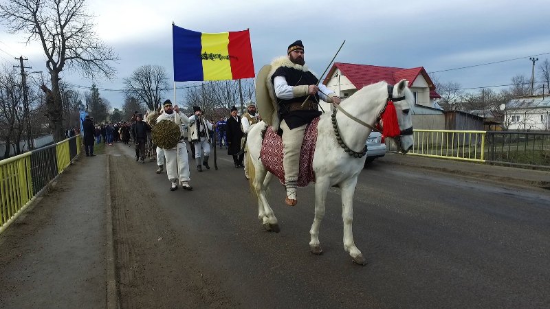
<svg viewBox="0 0 550 309"><path fill-rule="evenodd" d="M550 133L414 130L411 155L550 168Z"/></svg>

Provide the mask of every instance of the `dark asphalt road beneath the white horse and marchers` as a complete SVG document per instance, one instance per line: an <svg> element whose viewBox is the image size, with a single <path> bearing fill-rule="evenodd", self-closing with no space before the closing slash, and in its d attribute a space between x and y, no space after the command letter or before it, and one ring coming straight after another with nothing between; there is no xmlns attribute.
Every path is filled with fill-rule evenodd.
<svg viewBox="0 0 550 309"><path fill-rule="evenodd" d="M313 255L313 186L287 207L273 181L268 199L281 232L270 233L225 150L219 170L192 164L192 192L170 192L166 174L133 161L132 151L108 151L122 308L550 304L548 190L375 161L355 191L354 240L369 263L359 266L343 249L338 189L328 192L324 254Z"/></svg>

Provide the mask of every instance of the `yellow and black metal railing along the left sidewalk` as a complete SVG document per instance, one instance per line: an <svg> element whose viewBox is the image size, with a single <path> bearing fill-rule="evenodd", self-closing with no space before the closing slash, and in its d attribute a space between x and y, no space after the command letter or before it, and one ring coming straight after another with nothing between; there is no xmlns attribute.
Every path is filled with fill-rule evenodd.
<svg viewBox="0 0 550 309"><path fill-rule="evenodd" d="M0 233L80 153L80 135L0 161Z"/></svg>

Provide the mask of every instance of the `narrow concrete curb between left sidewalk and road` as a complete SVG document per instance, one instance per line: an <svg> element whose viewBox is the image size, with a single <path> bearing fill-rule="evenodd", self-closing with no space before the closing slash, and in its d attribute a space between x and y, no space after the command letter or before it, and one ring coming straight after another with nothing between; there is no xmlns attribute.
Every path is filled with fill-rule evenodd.
<svg viewBox="0 0 550 309"><path fill-rule="evenodd" d="M107 207L107 220L105 225L107 227L107 309L118 309L120 304L118 302L118 286L116 283L115 272L115 243L113 241L113 209L111 208L111 171L109 170L109 155L107 155L107 190L105 190L105 205Z"/></svg>

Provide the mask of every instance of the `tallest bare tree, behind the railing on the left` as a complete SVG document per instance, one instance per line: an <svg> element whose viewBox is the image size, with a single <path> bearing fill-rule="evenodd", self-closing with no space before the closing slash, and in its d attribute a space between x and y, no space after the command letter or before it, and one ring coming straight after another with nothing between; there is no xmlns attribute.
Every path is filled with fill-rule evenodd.
<svg viewBox="0 0 550 309"><path fill-rule="evenodd" d="M115 75L109 63L118 57L97 38L93 19L86 12L85 0L5 0L0 4L0 20L12 34L23 32L28 35L27 42L42 45L52 82L53 99L47 100L47 113L55 141L65 137L59 89L65 66L89 78L111 79Z"/></svg>

